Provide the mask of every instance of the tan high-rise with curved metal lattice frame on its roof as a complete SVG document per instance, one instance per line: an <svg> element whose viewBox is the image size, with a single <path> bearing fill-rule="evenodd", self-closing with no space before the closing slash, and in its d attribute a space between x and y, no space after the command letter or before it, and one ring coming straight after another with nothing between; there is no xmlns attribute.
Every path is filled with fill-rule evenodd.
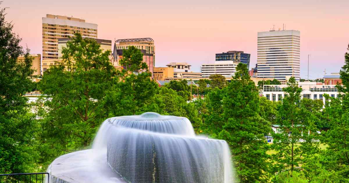
<svg viewBox="0 0 349 183"><path fill-rule="evenodd" d="M151 38L118 39L114 44L113 56L115 59L122 57L122 50L135 46L143 53L143 62L147 63L148 69L153 73L155 66L155 45Z"/></svg>

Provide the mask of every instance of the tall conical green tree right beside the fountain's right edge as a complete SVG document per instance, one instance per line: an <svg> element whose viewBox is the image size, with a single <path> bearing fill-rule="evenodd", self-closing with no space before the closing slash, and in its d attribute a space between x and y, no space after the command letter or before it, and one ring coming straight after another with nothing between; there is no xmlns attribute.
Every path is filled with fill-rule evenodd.
<svg viewBox="0 0 349 183"><path fill-rule="evenodd" d="M258 89L246 65L239 63L236 70L223 89L224 125L218 137L230 146L240 182L268 182L268 144L264 136L271 131L270 123L259 116Z"/></svg>

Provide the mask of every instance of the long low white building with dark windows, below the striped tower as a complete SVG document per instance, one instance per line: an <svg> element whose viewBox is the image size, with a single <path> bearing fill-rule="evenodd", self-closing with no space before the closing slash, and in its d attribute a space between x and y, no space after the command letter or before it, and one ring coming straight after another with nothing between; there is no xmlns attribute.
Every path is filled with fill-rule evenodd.
<svg viewBox="0 0 349 183"><path fill-rule="evenodd" d="M298 82L298 86L302 88L302 92L300 93L301 98L319 99L325 104L325 93L330 97L339 97L336 85L326 85L317 82ZM264 85L261 94L268 100L281 101L285 95L285 92L282 91L284 87L287 87L287 85Z"/></svg>

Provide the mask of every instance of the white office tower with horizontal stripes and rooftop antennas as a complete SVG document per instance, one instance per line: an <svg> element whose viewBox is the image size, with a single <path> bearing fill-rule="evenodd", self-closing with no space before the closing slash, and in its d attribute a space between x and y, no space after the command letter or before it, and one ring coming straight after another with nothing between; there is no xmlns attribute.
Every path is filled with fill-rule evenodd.
<svg viewBox="0 0 349 183"><path fill-rule="evenodd" d="M300 32L279 30L258 32L257 77L299 81Z"/></svg>

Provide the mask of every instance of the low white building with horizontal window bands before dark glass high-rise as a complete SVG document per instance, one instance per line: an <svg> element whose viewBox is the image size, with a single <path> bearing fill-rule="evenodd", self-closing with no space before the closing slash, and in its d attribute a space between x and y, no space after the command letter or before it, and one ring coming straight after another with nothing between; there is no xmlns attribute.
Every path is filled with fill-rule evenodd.
<svg viewBox="0 0 349 183"><path fill-rule="evenodd" d="M202 73L202 77L210 77L210 75L214 74L228 76L236 73L238 64L233 61L215 61L215 63L202 64L200 72Z"/></svg>

